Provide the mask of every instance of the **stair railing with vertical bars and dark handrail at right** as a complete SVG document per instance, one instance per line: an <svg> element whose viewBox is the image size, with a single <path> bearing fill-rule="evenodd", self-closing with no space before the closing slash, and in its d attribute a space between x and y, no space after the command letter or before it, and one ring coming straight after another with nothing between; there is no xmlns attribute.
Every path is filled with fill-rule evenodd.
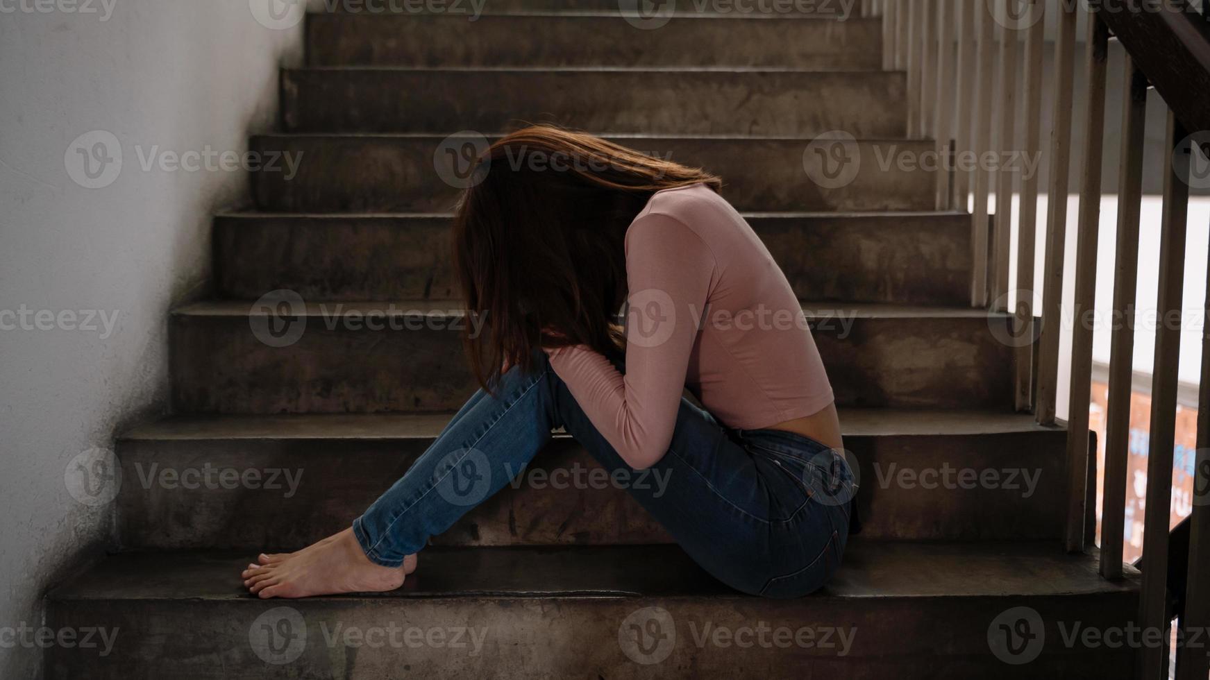
<svg viewBox="0 0 1210 680"><path fill-rule="evenodd" d="M1074 253L1071 391L1067 445L1066 548L1083 552L1094 536L1085 528L1089 469L1089 403L1093 369L1096 258L1100 227L1102 142L1108 44L1127 52L1122 102L1117 261L1114 266L1112 358L1108 386L1102 546L1105 578L1124 576L1123 535L1135 335L1142 154L1148 90L1169 108L1160 226L1160 319L1147 462L1142 587L1136 623L1168 628L1166 572L1171 472L1189 185L1210 181L1210 24L1188 0L863 0L862 13L882 17L883 67L908 71L909 133L938 140L941 157L957 168L939 181L939 209L969 209L974 276L972 305L1014 313L1024 339L1016 357L1016 405L1042 425L1055 425L1060 398L1059 347L1067 236L1068 173L1072 154L1076 31L1087 15L1083 57L1085 133L1079 159L1079 213ZM1006 152L1039 154L1043 56L1048 19L1055 24L1049 186L1042 299L1035 300L1038 177L1002 163ZM998 52L997 52L997 33ZM1019 57L1024 39L1024 59ZM997 68L998 67L998 68ZM1022 70L1016 77L1018 69ZM1016 134L1022 116L1024 136ZM998 123L998 125L997 125ZM1191 134L1192 132L1192 134ZM957 161L996 154L970 171ZM1191 167L1197 160L1199 167ZM1191 174L1195 173L1195 174ZM1195 179L1194 179L1195 178ZM1199 184L1200 185L1200 184ZM1016 218L1016 281L1010 286L1012 196L1020 190ZM995 207L990 194L995 188ZM1210 300L1210 276L1206 281ZM1037 317L1036 317L1037 315ZM1210 307L1205 312L1194 508L1191 517L1188 589L1182 628L1210 632ZM1136 651L1137 678L1166 678L1166 646ZM1210 656L1179 657L1179 680L1205 680Z"/></svg>

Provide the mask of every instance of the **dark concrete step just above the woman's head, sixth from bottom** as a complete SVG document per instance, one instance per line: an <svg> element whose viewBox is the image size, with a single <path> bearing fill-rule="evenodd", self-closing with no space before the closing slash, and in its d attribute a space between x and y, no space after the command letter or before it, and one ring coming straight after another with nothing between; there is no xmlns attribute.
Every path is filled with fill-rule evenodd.
<svg viewBox="0 0 1210 680"><path fill-rule="evenodd" d="M287 132L489 133L552 122L686 136L843 128L881 138L908 133L905 88L906 75L891 71L330 67L282 71L282 121Z"/></svg>

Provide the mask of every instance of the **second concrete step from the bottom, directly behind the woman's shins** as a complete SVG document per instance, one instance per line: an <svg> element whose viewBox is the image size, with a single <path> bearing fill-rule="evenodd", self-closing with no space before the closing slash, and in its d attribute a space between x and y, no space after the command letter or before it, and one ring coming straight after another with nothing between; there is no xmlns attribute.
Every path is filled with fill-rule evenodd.
<svg viewBox="0 0 1210 680"><path fill-rule="evenodd" d="M296 551L347 528L449 419L172 416L136 428L117 445L119 537L129 549ZM841 423L860 462L862 536L1061 536L1065 431L1039 427L1030 415L987 411L858 409L842 411ZM972 480L985 473L996 479ZM670 542L628 494L632 485L667 480L611 482L605 474L560 434L512 484L433 542Z"/></svg>

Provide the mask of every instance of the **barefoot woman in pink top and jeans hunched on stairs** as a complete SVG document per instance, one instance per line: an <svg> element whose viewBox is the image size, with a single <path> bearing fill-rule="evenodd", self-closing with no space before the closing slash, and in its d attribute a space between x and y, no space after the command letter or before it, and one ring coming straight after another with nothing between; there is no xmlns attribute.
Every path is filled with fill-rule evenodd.
<svg viewBox="0 0 1210 680"><path fill-rule="evenodd" d="M473 180L453 236L466 309L485 315L466 339L483 390L350 529L248 565L252 593L398 588L559 427L611 473L667 480L628 491L718 580L823 586L855 509L831 386L719 178L538 126L492 144Z"/></svg>

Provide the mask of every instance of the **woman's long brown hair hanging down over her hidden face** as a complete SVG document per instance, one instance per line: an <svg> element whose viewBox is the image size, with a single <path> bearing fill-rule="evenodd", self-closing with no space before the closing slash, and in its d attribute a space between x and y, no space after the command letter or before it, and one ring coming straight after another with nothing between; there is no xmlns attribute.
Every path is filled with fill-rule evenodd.
<svg viewBox="0 0 1210 680"><path fill-rule="evenodd" d="M530 370L540 346L617 357L630 221L656 191L721 188L699 168L552 126L503 137L479 163L453 244L467 313L482 315L467 356L488 390L505 365Z"/></svg>

